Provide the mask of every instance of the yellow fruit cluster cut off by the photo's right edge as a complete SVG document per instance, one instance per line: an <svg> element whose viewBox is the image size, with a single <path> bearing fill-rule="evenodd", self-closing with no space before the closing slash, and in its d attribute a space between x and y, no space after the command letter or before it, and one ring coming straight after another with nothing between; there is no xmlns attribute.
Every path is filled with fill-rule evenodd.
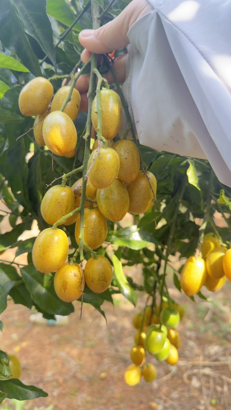
<svg viewBox="0 0 231 410"><path fill-rule="evenodd" d="M212 233L204 236L201 244L202 257L191 256L181 271L181 288L186 295L198 293L203 285L216 292L231 281L231 249L227 250Z"/></svg>

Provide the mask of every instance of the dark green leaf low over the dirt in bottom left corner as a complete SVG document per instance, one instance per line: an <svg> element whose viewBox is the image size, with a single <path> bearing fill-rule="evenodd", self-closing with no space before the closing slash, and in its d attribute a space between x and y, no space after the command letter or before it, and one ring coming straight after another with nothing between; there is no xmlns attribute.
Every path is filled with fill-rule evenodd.
<svg viewBox="0 0 231 410"><path fill-rule="evenodd" d="M31 400L48 396L42 389L27 386L18 379L0 380L0 390L7 393L9 399Z"/></svg>

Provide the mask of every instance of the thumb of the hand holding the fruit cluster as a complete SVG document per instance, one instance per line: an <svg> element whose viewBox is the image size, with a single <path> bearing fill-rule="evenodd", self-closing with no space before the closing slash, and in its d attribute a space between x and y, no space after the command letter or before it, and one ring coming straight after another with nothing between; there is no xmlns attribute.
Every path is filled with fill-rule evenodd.
<svg viewBox="0 0 231 410"><path fill-rule="evenodd" d="M138 20L152 10L147 0L133 0L114 20L97 30L83 30L79 34L80 44L96 54L104 54L127 46L128 30Z"/></svg>

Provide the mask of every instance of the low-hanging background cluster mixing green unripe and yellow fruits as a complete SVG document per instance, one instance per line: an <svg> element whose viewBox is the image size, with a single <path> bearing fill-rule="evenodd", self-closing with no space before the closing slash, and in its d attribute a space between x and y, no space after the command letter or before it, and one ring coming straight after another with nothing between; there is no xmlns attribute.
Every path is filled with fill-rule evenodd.
<svg viewBox="0 0 231 410"><path fill-rule="evenodd" d="M146 353L168 364L178 362L177 349L181 346L181 338L175 327L183 315L183 306L162 301L162 307L146 306L142 312L133 316L133 326L137 331L134 336L135 346L130 351L133 364L127 367L124 374L128 385L136 385L142 376L147 382L155 380L156 367L146 362Z"/></svg>

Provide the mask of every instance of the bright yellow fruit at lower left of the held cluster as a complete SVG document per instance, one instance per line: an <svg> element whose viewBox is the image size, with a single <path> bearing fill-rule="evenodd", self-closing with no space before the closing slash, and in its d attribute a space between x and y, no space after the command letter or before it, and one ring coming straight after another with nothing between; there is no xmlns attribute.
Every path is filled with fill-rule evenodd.
<svg viewBox="0 0 231 410"><path fill-rule="evenodd" d="M61 229L46 228L35 239L32 260L42 273L57 271L68 256L68 239Z"/></svg>

